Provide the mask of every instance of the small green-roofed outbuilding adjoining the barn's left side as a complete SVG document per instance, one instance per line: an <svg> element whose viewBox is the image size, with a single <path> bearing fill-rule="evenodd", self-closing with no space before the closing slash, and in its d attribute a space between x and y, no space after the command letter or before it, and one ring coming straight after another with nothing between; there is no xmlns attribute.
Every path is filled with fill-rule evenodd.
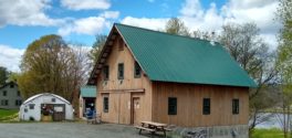
<svg viewBox="0 0 292 138"><path fill-rule="evenodd" d="M95 110L96 87L83 86L80 88L80 118L85 117L87 109Z"/></svg>

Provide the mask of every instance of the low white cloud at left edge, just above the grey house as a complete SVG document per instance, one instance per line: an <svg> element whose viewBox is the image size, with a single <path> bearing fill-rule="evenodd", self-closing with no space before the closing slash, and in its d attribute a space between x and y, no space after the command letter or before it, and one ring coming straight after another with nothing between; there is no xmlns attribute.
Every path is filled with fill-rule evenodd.
<svg viewBox="0 0 292 138"><path fill-rule="evenodd" d="M21 56L24 53L22 49L0 44L0 66L7 67L9 71L19 72Z"/></svg>

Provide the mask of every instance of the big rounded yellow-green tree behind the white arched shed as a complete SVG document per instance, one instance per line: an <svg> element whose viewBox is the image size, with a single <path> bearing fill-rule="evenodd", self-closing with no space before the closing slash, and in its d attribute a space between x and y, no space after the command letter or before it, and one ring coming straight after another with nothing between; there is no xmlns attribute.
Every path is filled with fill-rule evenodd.
<svg viewBox="0 0 292 138"><path fill-rule="evenodd" d="M42 36L24 52L19 88L24 98L39 93L54 93L72 103L86 81L86 60L85 51L69 46L61 36Z"/></svg>

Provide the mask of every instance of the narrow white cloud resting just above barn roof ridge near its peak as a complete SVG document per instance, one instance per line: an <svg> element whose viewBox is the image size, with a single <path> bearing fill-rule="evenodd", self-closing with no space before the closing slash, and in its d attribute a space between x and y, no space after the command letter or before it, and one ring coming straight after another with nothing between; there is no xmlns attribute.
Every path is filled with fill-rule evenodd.
<svg viewBox="0 0 292 138"><path fill-rule="evenodd" d="M135 25L152 30L164 30L165 24L169 19L161 18L161 19L148 19L148 18L133 18L133 17L126 17L122 20L122 23L128 24L128 25Z"/></svg>

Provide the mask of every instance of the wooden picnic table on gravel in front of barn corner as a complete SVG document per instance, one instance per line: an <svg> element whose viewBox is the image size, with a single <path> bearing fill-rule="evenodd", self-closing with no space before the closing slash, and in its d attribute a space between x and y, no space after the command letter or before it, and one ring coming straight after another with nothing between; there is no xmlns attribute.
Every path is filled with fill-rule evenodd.
<svg viewBox="0 0 292 138"><path fill-rule="evenodd" d="M166 137L166 131L170 130L166 128L167 127L166 124L154 123L154 121L142 121L140 124L142 124L140 126L136 126L136 128L139 129L139 135L142 134L142 130L147 130L152 132L152 136L157 131L161 131Z"/></svg>

